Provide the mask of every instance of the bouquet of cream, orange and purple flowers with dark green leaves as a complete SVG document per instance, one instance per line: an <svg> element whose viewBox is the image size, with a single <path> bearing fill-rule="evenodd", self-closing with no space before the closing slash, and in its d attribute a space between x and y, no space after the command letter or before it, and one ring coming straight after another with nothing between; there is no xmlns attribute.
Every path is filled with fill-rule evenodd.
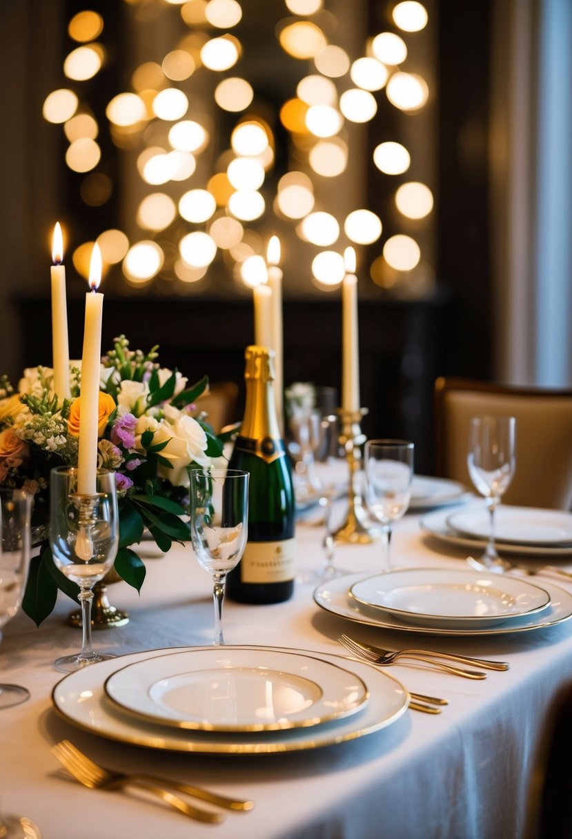
<svg viewBox="0 0 572 839"><path fill-rule="evenodd" d="M215 435L197 414L195 400L208 378L187 388L177 370L160 367L157 347L143 353L120 336L101 359L98 466L117 482L119 550L115 570L139 591L145 566L133 545L148 529L159 549L190 538L184 517L187 467L208 466L222 455ZM70 365L70 399L59 404L48 367L24 371L14 390L0 377L0 486L34 495L33 539L41 542L30 563L23 609L39 625L55 606L58 589L77 600L78 586L55 567L47 539L49 472L77 464L81 364Z"/></svg>

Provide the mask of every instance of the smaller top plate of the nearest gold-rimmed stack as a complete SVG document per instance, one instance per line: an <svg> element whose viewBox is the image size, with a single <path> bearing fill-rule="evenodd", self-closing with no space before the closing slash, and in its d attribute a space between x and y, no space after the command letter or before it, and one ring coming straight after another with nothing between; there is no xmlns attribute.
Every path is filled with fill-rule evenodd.
<svg viewBox="0 0 572 839"><path fill-rule="evenodd" d="M355 673L278 650L189 649L127 664L104 685L140 718L213 732L319 725L358 711L367 687Z"/></svg>

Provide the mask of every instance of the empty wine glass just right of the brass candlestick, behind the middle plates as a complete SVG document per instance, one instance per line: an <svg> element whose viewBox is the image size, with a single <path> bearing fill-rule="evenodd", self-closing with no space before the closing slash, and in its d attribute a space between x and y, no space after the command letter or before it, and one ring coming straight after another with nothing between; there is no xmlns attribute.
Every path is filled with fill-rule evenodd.
<svg viewBox="0 0 572 839"><path fill-rule="evenodd" d="M382 525L383 567L390 563L392 524L401 519L411 500L413 443L409 440L368 440L365 449L366 501Z"/></svg>

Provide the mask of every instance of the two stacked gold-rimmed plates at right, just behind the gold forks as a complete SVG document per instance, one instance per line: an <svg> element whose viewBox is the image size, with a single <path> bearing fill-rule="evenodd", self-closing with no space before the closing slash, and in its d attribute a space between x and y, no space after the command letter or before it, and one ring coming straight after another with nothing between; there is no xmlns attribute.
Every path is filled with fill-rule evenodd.
<svg viewBox="0 0 572 839"><path fill-rule="evenodd" d="M552 583L447 568L338 577L318 586L314 599L357 623L431 635L526 632L572 617L572 595Z"/></svg>

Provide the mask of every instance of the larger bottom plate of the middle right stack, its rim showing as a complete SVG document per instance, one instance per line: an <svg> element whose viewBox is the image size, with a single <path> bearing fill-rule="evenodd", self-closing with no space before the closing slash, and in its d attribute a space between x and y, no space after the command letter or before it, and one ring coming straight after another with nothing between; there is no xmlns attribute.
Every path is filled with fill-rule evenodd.
<svg viewBox="0 0 572 839"><path fill-rule="evenodd" d="M314 591L316 604L330 614L339 618L364 623L370 627L380 629L398 629L400 632L424 633L426 635L504 635L518 632L530 632L532 629L542 629L563 623L572 618L572 595L568 591L543 581L543 588L548 591L550 604L542 612L533 615L523 615L510 623L500 623L489 628L441 628L435 626L413 625L406 623L388 612L369 609L348 596L351 586L365 579L363 574L349 574L335 577L322 583Z"/></svg>

